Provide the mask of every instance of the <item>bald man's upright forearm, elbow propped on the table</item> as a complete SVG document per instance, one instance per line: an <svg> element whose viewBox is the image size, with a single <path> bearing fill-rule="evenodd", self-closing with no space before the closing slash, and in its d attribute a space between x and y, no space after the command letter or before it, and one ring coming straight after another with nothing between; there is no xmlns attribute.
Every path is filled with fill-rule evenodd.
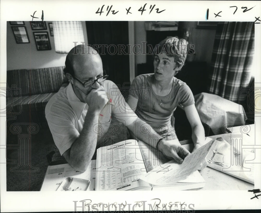
<svg viewBox="0 0 261 213"><path fill-rule="evenodd" d="M88 111L78 139L70 149L68 163L79 171L85 171L90 163L97 145L97 133L93 126L98 123L99 112Z"/></svg>

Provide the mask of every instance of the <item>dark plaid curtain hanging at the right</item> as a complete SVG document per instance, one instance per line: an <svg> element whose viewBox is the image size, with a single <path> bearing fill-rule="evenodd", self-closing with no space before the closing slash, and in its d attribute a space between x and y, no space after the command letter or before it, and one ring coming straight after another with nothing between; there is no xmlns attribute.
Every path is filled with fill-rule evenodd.
<svg viewBox="0 0 261 213"><path fill-rule="evenodd" d="M247 87L254 55L254 22L217 25L208 92L239 103L239 88Z"/></svg>

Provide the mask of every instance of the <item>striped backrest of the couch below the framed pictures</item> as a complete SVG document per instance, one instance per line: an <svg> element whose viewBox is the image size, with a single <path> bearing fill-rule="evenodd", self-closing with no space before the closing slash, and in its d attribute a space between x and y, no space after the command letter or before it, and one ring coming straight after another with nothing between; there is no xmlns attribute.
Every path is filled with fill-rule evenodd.
<svg viewBox="0 0 261 213"><path fill-rule="evenodd" d="M63 67L7 71L7 85L21 88L22 96L57 92L66 82Z"/></svg>

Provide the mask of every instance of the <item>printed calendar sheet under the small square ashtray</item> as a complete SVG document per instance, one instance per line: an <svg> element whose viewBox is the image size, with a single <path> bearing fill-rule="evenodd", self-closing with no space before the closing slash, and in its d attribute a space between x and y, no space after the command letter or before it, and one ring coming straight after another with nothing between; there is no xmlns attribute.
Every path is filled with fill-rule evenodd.
<svg viewBox="0 0 261 213"><path fill-rule="evenodd" d="M56 191L62 181L67 177L90 180L87 191L95 190L95 167L96 160L92 160L85 172L73 169L68 163L48 166L41 191Z"/></svg>

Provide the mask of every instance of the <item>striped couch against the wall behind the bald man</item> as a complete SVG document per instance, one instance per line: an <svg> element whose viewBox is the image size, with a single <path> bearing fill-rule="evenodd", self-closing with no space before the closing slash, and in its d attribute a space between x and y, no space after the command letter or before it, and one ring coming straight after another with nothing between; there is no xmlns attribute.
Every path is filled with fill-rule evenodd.
<svg viewBox="0 0 261 213"><path fill-rule="evenodd" d="M48 127L45 119L45 106L50 98L62 87L68 85L63 67L52 67L32 70L7 71L7 85L21 89L21 97L12 100L11 114L16 115L15 122L37 123ZM10 100L7 99L7 102ZM21 112L21 113L20 113Z"/></svg>

